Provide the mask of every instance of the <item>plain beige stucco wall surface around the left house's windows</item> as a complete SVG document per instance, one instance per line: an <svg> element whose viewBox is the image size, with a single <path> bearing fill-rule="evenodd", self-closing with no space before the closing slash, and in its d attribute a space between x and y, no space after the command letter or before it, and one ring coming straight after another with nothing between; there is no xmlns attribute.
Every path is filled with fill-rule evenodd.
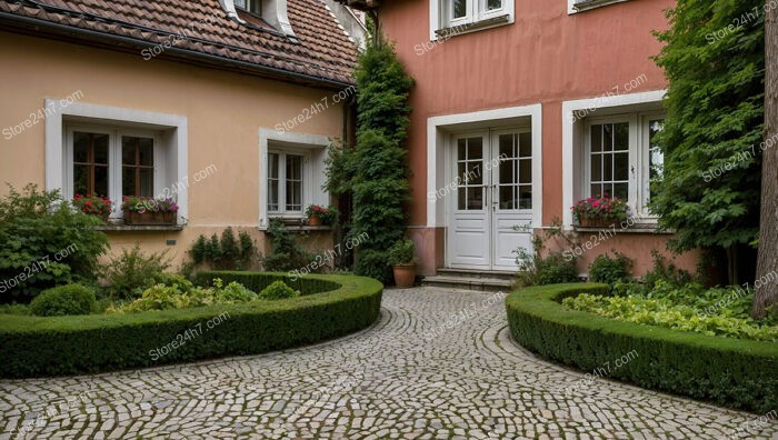
<svg viewBox="0 0 778 440"><path fill-rule="evenodd" d="M110 233L112 252L141 241L146 250L170 249L176 264L199 234L220 233L228 226L250 231L265 249L265 234L258 230L259 128L273 128L333 94L161 59L146 61L140 51L118 53L7 32L0 32L0 130L22 123L47 98L59 100L79 90L82 103L187 118L189 176L210 164L218 170L189 186L188 226L181 232ZM329 102L292 131L341 137L342 104ZM10 140L0 136L0 194L8 192L4 182L44 187L44 126L40 121ZM166 240L177 242L166 246ZM315 248L323 251L328 241L315 240Z"/></svg>

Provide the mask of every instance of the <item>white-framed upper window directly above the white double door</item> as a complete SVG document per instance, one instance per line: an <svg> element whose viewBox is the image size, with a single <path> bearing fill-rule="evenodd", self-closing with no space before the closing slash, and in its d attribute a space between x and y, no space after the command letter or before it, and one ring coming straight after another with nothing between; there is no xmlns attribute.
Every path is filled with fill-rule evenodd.
<svg viewBox="0 0 778 440"><path fill-rule="evenodd" d="M513 22L515 0L430 0L430 39Z"/></svg>

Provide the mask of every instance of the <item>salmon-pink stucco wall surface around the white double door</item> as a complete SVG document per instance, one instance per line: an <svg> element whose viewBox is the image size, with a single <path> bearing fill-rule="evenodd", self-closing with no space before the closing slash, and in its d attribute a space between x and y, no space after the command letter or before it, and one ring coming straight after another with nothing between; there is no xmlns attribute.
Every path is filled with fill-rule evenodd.
<svg viewBox="0 0 778 440"><path fill-rule="evenodd" d="M650 57L661 44L654 30L667 28L671 0L632 0L567 13L566 1L516 0L516 22L430 43L429 1L383 2L380 21L416 81L409 138L410 234L418 244L421 271L443 264L445 233L425 231L427 204L427 119L527 104L542 104L542 218L561 218L563 101L596 98L641 78L632 92L662 90L666 79ZM431 0L437 1L437 0ZM422 228L418 228L422 227ZM638 271L650 266L650 250L664 249L667 236L619 236L608 247L631 248ZM694 268L694 258L679 259Z"/></svg>

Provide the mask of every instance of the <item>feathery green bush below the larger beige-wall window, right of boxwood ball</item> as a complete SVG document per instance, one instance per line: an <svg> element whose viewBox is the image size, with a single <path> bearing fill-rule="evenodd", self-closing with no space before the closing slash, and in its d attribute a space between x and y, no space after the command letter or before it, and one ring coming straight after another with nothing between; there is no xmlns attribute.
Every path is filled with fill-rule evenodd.
<svg viewBox="0 0 778 440"><path fill-rule="evenodd" d="M168 251L144 254L140 244L129 251L121 250L121 256L113 258L102 270L108 282L108 294L111 299L139 298L143 290L167 279L164 270L170 267Z"/></svg>

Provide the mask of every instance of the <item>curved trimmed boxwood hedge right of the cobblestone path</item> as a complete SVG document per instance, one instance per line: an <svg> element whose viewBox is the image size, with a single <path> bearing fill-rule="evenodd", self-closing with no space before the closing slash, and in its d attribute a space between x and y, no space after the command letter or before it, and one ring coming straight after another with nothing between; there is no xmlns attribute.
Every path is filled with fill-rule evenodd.
<svg viewBox="0 0 778 440"><path fill-rule="evenodd" d="M506 300L510 331L527 349L584 371L636 350L610 378L757 413L778 408L778 344L640 326L560 303L607 292L606 284L582 283L516 291Z"/></svg>

